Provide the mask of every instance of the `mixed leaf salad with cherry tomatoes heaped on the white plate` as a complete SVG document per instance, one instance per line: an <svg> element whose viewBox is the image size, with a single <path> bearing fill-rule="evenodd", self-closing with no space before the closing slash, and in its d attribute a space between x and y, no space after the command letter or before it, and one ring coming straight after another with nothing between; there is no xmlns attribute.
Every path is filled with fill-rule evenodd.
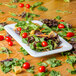
<svg viewBox="0 0 76 76"><path fill-rule="evenodd" d="M14 31L22 37L22 42L37 52L53 50L61 44L59 36L46 24L19 21Z"/></svg>

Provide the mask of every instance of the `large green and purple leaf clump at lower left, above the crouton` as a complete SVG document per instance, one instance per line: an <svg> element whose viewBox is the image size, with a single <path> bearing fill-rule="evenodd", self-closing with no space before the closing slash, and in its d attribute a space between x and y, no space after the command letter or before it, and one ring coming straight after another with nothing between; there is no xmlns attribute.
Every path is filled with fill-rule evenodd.
<svg viewBox="0 0 76 76"><path fill-rule="evenodd" d="M23 63L25 63L26 60L22 58L21 60L13 58L13 59L8 59L4 61L0 61L0 68L4 73L8 73L11 70L14 70L15 66L23 66Z"/></svg>

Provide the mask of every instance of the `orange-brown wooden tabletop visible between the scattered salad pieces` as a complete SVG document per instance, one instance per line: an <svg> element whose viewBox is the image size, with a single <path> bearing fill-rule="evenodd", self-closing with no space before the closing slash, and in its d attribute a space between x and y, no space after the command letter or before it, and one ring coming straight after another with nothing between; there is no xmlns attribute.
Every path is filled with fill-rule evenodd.
<svg viewBox="0 0 76 76"><path fill-rule="evenodd" d="M0 0L0 3L8 3L9 1L10 0ZM37 9L35 9L33 13L40 15L39 18L35 18L36 20L44 19L44 18L53 19L59 15L62 17L63 20L72 24L73 27L76 27L76 23L75 23L76 22L76 0L72 0L70 3L65 3L65 2L63 2L63 0L31 0L31 1L26 1L23 3L24 4L30 3L32 5L38 1L42 1L43 6L47 7L48 11L43 12L43 11L38 11ZM16 4L18 6L19 3L13 3L13 4ZM0 14L0 23L7 22L8 24L13 23L11 21L7 21L7 19L9 17L13 17L9 14L9 12L16 13L17 15L22 13L23 11L31 12L29 9L26 9L25 7L24 8L17 7L15 9L15 8L9 8L5 5L0 5L0 10L5 12L5 14ZM70 11L72 13L71 14L56 13L56 10ZM18 19L22 20L22 18L17 17L17 16L14 18L18 18ZM0 34L3 34L5 36L6 31L1 31ZM44 62L45 62L46 59L48 59L49 57L53 57L53 56L56 57L57 59L61 60L62 62L65 62L65 60L66 60L66 56L61 56L60 54L49 55L49 56L40 57L40 58L35 58L30 55L24 56L22 53L18 52L20 50L19 48L21 46L14 39L13 39L13 43L14 43L14 46L9 47L8 43L5 40L3 40L3 41L0 41L0 47L2 47L2 46L7 47L8 49L10 49L13 52L13 54L11 54L9 58L21 59L22 57L24 57L26 60L28 60L28 62L31 65L35 65L35 69L34 69L35 73L39 73L38 72L39 66L37 65L37 63L40 62L41 60L44 60ZM6 58L8 58L6 54L0 54L0 60L4 60ZM49 71L51 71L51 70L60 71L62 76L76 76L76 75L71 75L70 73L68 73L66 70L67 68L72 69L72 67L67 63L62 63L62 66L55 67L55 68L51 68L50 65L47 67L47 69ZM4 74L0 70L0 76L15 76L15 73L13 73L11 71L7 74ZM34 76L34 75L25 71L20 74L17 74L17 76Z"/></svg>

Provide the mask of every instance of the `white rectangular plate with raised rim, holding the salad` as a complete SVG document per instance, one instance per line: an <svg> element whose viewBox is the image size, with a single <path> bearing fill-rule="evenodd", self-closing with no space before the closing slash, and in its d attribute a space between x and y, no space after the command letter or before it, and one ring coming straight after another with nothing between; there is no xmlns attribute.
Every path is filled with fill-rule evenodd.
<svg viewBox="0 0 76 76"><path fill-rule="evenodd" d="M37 20L34 20L32 22L38 23L39 25L43 24L42 22L37 21ZM22 42L22 38L14 32L13 29L15 25L16 24L9 24L5 26L4 28L31 56L42 57L46 55L52 55L52 54L56 54L60 52L65 52L72 49L72 45L59 36L60 40L62 41L60 45L60 46L63 46L62 48L51 50L51 51L45 51L45 52L36 52L34 50L31 50L29 46L27 46L25 43Z"/></svg>

